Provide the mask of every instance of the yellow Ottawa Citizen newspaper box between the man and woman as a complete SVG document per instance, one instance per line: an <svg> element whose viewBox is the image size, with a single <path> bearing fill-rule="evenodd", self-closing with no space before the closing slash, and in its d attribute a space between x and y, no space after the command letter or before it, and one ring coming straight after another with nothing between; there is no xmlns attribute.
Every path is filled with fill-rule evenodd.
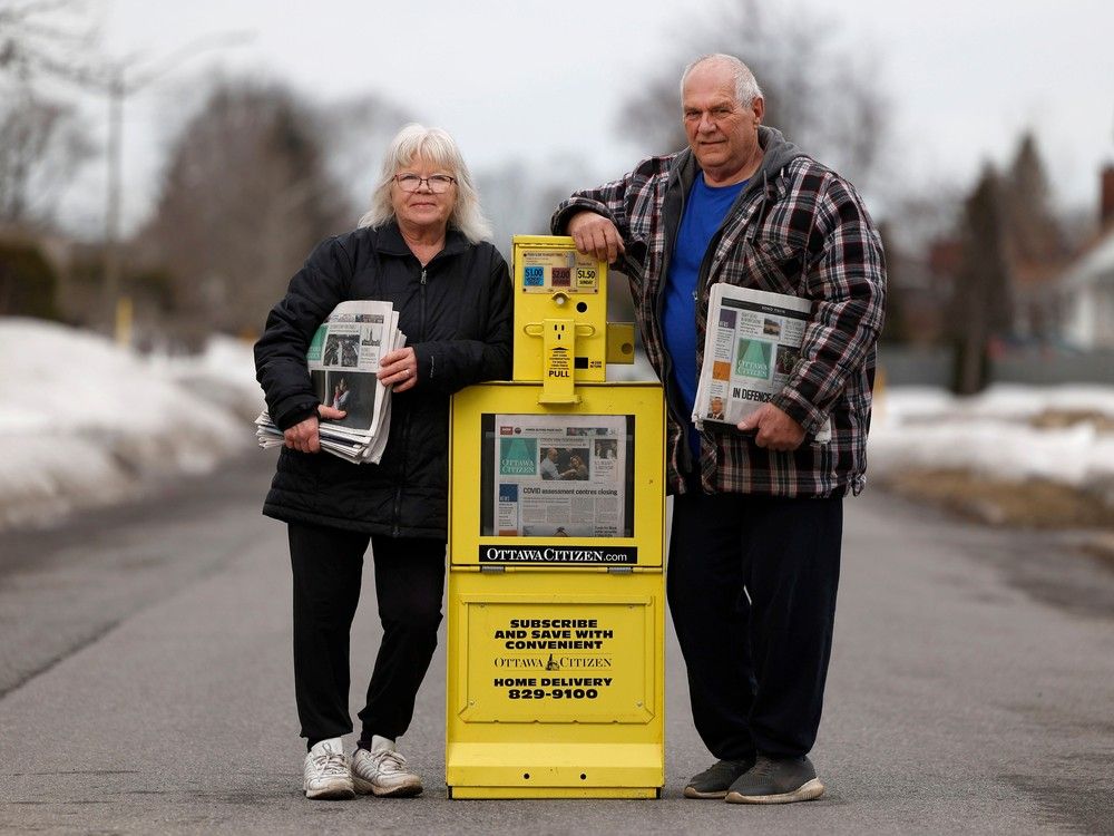
<svg viewBox="0 0 1114 836"><path fill-rule="evenodd" d="M571 240L516 237L515 282L516 380L452 405L449 796L658 797L662 390L604 380L632 332Z"/></svg>

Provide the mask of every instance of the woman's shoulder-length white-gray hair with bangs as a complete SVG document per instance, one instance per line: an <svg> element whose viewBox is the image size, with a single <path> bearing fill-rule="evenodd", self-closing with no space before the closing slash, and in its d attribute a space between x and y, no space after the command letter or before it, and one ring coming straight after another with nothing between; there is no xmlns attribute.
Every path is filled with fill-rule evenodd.
<svg viewBox="0 0 1114 836"><path fill-rule="evenodd" d="M383 157L379 183L371 193L371 206L358 225L382 226L394 220L391 184L394 182L394 175L418 157L438 168L444 168L457 178L457 203L452 207L452 214L449 215L449 225L460 230L473 244L490 241L491 224L483 217L479 194L457 144L441 128L427 128L417 123L403 127L391 140Z"/></svg>

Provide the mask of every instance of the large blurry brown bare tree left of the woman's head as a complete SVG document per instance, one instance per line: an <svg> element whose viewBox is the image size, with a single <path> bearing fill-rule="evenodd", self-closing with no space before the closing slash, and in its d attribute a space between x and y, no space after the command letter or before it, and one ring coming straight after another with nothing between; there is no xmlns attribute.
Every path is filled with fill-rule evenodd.
<svg viewBox="0 0 1114 836"><path fill-rule="evenodd" d="M226 81L172 149L141 237L174 276L188 341L257 330L313 244L351 226L313 126L291 91Z"/></svg>

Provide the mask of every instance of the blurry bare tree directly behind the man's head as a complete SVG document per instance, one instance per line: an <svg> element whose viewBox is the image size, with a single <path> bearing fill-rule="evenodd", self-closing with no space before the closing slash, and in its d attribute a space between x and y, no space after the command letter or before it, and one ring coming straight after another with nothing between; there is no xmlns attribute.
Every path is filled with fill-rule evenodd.
<svg viewBox="0 0 1114 836"><path fill-rule="evenodd" d="M684 38L624 106L618 128L645 153L685 147L680 79L684 66L709 52L737 56L765 98L765 124L807 153L862 185L874 168L887 129L887 99L873 60L836 43L837 27L799 9L723 0L704 22L686 10Z"/></svg>

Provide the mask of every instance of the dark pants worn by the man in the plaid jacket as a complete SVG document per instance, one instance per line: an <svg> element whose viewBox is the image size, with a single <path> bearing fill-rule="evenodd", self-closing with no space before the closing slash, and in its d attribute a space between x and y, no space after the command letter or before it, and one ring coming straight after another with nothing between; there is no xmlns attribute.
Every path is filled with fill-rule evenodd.
<svg viewBox="0 0 1114 836"><path fill-rule="evenodd" d="M716 758L805 755L831 655L843 500L675 496L666 585Z"/></svg>

